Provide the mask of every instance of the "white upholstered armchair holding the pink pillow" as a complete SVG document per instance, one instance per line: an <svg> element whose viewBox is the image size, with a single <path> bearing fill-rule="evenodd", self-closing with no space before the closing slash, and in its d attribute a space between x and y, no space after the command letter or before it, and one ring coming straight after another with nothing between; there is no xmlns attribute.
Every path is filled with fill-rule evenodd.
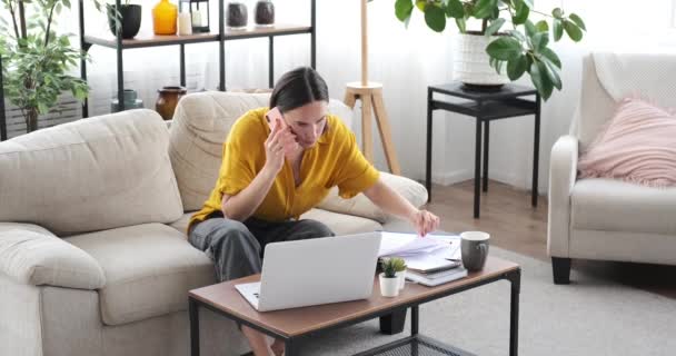
<svg viewBox="0 0 676 356"><path fill-rule="evenodd" d="M547 253L554 283L568 284L570 259L676 265L676 188L577 179L578 155L625 96L676 107L676 56L594 53L583 62L570 135L551 148Z"/></svg>

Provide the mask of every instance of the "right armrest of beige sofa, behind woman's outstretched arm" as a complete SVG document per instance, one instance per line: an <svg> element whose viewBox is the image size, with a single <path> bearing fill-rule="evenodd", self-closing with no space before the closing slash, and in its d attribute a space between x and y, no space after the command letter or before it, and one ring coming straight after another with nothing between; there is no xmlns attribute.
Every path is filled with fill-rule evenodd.
<svg viewBox="0 0 676 356"><path fill-rule="evenodd" d="M380 179L390 188L399 192L406 200L410 201L416 208L419 208L427 202L427 189L425 189L421 184L406 177L387 172L380 172ZM359 194L350 199L341 198L338 196L338 188L331 189L329 195L321 200L317 207L334 212L368 218L380 224L385 224L388 220L396 218L382 211L382 209L372 204L364 194Z"/></svg>

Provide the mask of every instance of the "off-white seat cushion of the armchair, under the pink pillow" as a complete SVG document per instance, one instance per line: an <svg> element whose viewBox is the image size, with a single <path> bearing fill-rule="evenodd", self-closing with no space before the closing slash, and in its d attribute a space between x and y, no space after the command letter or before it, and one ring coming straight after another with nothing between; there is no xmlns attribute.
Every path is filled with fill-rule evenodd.
<svg viewBox="0 0 676 356"><path fill-rule="evenodd" d="M570 226L575 229L676 236L676 188L588 178L575 184L570 200Z"/></svg>

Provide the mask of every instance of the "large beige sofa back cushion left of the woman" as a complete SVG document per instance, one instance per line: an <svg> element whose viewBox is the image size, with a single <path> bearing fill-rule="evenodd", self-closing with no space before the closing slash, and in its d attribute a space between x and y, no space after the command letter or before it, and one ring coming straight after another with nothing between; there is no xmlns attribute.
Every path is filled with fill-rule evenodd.
<svg viewBox="0 0 676 356"><path fill-rule="evenodd" d="M0 142L0 221L58 236L173 221L183 209L168 141L157 112L130 110Z"/></svg>

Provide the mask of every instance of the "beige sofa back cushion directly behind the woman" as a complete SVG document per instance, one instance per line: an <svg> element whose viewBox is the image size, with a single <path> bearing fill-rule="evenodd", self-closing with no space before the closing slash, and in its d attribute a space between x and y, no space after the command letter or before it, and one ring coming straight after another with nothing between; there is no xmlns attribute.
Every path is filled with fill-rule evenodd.
<svg viewBox="0 0 676 356"><path fill-rule="evenodd" d="M183 208L199 210L213 189L223 141L235 120L250 109L268 106L269 93L209 91L185 96L171 123L169 156ZM351 110L331 100L329 111L349 127Z"/></svg>

